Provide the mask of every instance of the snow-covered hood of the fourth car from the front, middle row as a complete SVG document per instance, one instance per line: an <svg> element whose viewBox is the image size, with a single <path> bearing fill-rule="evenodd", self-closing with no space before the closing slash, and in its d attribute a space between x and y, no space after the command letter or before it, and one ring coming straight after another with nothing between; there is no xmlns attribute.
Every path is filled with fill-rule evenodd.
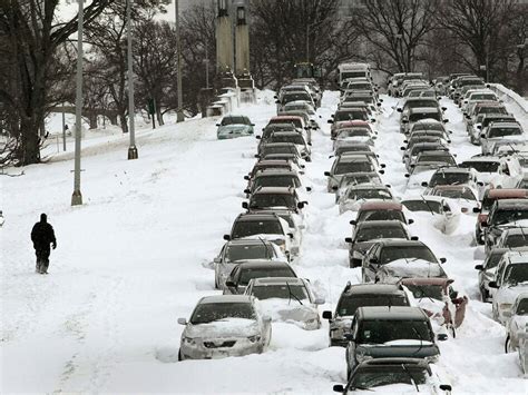
<svg viewBox="0 0 528 395"><path fill-rule="evenodd" d="M374 282L394 284L402 278L447 278L441 264L424 259L398 259L383 265L375 274Z"/></svg>

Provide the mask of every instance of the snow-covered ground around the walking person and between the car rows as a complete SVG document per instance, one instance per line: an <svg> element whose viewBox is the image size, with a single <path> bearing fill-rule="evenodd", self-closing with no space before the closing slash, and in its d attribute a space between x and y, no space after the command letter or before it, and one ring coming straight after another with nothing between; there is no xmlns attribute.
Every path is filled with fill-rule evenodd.
<svg viewBox="0 0 528 395"><path fill-rule="evenodd" d="M351 214L339 215L323 175L332 164L326 119L338 101L336 92L325 92L319 110L323 131L313 136L305 175L313 191L294 263L326 298L321 310L334 308L348 280L360 280L359 269L348 267L344 243ZM459 109L442 103L457 160L477 154ZM387 164L384 181L404 197L394 105L384 97L377 150ZM261 92L256 105L238 112L261 130L275 113L273 93ZM88 132L81 207L70 207L70 151L25 168L21 177L0 177L1 393L331 394L333 384L344 383L344 349L327 347L326 322L312 332L273 324L271 349L262 355L177 362L183 327L176 319L188 317L199 297L219 293L209 263L242 210L243 176L255 160L257 140L218 141L216 121L139 130L134 161L126 159L126 136ZM48 276L33 273L29 239L40 213L48 214L58 237ZM503 353L505 329L491 319L491 306L478 300L473 229L472 215L462 215L449 236L428 221L410 226L448 258L446 271L471 298L457 338L440 343L439 364L453 393L526 394L517 355Z"/></svg>

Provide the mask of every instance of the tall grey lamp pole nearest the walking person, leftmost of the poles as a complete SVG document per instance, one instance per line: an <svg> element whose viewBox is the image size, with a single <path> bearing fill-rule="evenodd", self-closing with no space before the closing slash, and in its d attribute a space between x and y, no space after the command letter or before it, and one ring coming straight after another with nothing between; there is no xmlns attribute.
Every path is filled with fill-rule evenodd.
<svg viewBox="0 0 528 395"><path fill-rule="evenodd" d="M77 17L77 76L76 76L76 102L75 102L75 168L74 168L74 195L71 195L71 206L82 205L80 192L80 124L82 121L82 23L84 23L84 0L79 2L79 14Z"/></svg>

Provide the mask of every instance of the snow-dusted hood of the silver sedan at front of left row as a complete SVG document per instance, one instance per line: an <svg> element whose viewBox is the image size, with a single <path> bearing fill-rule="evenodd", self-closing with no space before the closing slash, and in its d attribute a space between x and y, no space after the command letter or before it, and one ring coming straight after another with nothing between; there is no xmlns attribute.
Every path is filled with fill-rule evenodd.
<svg viewBox="0 0 528 395"><path fill-rule="evenodd" d="M183 336L202 338L248 337L260 333L254 319L226 318L208 324L188 324Z"/></svg>

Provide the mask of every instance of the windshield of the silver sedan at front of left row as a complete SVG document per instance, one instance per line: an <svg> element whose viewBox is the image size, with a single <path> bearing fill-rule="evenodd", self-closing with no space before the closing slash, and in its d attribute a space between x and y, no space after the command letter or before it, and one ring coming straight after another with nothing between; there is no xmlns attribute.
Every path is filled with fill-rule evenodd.
<svg viewBox="0 0 528 395"><path fill-rule="evenodd" d="M255 310L248 303L203 303L196 306L190 324L208 324L227 318L255 319Z"/></svg>

